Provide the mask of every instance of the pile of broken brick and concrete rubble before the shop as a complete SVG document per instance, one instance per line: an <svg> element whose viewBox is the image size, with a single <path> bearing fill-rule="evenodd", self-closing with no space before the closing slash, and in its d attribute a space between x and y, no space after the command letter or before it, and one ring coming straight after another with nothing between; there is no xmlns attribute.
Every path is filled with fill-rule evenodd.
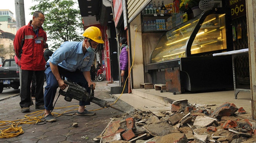
<svg viewBox="0 0 256 143"><path fill-rule="evenodd" d="M226 102L212 110L174 101L170 111L135 110L114 117L100 143L256 143L256 121Z"/></svg>

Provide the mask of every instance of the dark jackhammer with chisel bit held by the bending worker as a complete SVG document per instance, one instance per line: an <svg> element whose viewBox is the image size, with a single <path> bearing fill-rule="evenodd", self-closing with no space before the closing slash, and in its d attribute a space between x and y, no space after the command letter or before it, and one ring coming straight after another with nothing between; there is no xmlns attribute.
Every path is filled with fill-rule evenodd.
<svg viewBox="0 0 256 143"><path fill-rule="evenodd" d="M77 85L75 83L70 83L69 81L64 81L65 84L69 85L68 86L68 89L67 91L63 91L63 90L59 90L59 94L65 96L65 100L66 101L72 101L72 99L76 99L78 101L90 101L90 102L93 102L97 105L99 105L100 107L102 108L105 108L105 107L110 107L110 108L113 108L115 110L119 110L121 112L124 112L116 107L113 107L111 105L109 105L107 103L107 101L105 100L102 100L102 99L99 99L99 98L95 98L94 97L94 89L93 89L93 85L90 86L90 89L91 89L91 94L87 92L87 90L80 86L80 85Z"/></svg>

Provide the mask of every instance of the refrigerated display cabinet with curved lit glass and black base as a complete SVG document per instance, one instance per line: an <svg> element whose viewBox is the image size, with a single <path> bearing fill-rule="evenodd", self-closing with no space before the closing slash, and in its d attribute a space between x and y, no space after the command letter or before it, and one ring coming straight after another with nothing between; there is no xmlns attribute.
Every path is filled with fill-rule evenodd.
<svg viewBox="0 0 256 143"><path fill-rule="evenodd" d="M233 50L232 36L231 11L207 10L159 38L146 72L169 92L233 88L231 56L212 56Z"/></svg>

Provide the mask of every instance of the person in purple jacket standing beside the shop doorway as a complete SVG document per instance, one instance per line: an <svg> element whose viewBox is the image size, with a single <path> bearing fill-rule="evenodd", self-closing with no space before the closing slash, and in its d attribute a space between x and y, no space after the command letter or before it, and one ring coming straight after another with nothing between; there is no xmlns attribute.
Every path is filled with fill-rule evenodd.
<svg viewBox="0 0 256 143"><path fill-rule="evenodd" d="M120 70L121 70L121 78L122 85L125 86L124 93L128 93L128 46L127 39L124 37L119 41L121 53L120 53ZM127 79L127 80L126 80ZM126 82L125 82L126 80Z"/></svg>

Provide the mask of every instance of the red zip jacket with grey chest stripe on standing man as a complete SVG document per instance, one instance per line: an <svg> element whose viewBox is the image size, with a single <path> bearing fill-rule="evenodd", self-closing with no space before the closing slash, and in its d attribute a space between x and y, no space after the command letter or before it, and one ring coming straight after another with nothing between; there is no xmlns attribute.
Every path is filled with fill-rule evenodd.
<svg viewBox="0 0 256 143"><path fill-rule="evenodd" d="M31 23L32 21L18 29L13 41L15 54L20 59L19 66L22 70L45 70L44 46L47 36L42 27L36 35ZM41 43L36 44L35 39L40 39Z"/></svg>

